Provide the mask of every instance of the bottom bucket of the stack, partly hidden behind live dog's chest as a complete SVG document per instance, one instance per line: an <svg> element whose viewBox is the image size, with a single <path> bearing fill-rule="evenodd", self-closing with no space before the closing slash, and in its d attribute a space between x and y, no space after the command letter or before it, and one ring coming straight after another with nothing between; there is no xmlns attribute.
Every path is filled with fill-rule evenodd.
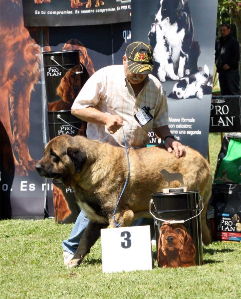
<svg viewBox="0 0 241 299"><path fill-rule="evenodd" d="M74 191L66 188L61 182L52 180L53 183L53 207L56 223L75 222L80 208L76 203Z"/></svg>

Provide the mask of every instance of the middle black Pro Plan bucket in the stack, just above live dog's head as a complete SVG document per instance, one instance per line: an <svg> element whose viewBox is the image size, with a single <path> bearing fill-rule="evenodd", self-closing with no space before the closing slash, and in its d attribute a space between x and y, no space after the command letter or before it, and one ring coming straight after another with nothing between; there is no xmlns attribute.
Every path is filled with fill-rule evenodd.
<svg viewBox="0 0 241 299"><path fill-rule="evenodd" d="M48 111L48 130L50 140L68 134L86 136L86 122L71 114L71 111Z"/></svg>

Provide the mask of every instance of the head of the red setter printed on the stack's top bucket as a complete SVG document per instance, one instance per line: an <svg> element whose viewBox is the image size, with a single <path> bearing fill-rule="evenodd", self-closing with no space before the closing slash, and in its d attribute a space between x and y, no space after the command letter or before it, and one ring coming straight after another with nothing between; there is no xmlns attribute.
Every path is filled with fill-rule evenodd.
<svg viewBox="0 0 241 299"><path fill-rule="evenodd" d="M78 74L78 72L82 73ZM75 98L88 79L88 72L82 64L69 69L61 79L57 87L57 95L62 97L63 101L69 105L69 109L71 109Z"/></svg>

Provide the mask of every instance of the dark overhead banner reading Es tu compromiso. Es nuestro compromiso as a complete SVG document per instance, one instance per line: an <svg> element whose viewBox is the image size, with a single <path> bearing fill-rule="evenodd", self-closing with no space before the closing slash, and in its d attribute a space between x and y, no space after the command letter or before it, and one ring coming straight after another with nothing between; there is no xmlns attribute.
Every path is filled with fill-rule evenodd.
<svg viewBox="0 0 241 299"><path fill-rule="evenodd" d="M131 20L131 0L22 0L24 26L98 25ZM100 32L101 34L101 32Z"/></svg>

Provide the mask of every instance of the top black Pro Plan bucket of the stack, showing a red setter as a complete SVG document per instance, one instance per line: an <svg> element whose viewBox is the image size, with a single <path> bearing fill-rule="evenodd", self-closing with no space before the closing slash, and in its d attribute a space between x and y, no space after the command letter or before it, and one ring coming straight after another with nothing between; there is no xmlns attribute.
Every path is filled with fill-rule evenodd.
<svg viewBox="0 0 241 299"><path fill-rule="evenodd" d="M51 51L42 54L48 111L70 110L81 89L79 82L83 66L79 64L79 51ZM71 75L79 78L72 80ZM71 84L74 85L72 95L66 90Z"/></svg>

